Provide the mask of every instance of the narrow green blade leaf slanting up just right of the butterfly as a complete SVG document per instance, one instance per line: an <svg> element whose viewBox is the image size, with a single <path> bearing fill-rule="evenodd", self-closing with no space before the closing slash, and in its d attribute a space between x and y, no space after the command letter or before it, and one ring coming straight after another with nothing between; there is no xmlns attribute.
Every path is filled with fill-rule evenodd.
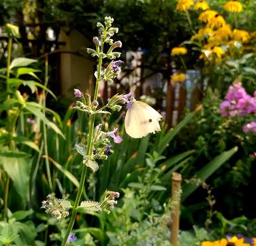
<svg viewBox="0 0 256 246"><path fill-rule="evenodd" d="M186 115L186 117L182 121L180 121L180 123L178 123L176 127L174 127L173 129L170 129L168 133L166 133L166 135L164 135L164 137L160 139L157 153L159 154L163 153L166 147L168 147L168 144L170 143L170 141L172 141L172 139L178 134L178 132L182 129L182 127L186 126L186 124L190 122L190 120L194 117L196 113L197 111L194 111Z"/></svg>

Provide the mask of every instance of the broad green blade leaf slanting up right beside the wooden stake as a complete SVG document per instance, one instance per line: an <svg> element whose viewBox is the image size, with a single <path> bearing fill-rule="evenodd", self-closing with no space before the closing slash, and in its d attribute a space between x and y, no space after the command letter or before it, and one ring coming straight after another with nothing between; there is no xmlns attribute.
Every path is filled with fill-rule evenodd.
<svg viewBox="0 0 256 246"><path fill-rule="evenodd" d="M206 166L201 168L196 172L196 178L199 178L203 182L206 181L222 164L224 164L233 154L238 150L238 147L233 147L229 151L225 151L222 154L216 156L212 161L210 161ZM198 186L196 184L184 184L182 187L182 202L196 190Z"/></svg>

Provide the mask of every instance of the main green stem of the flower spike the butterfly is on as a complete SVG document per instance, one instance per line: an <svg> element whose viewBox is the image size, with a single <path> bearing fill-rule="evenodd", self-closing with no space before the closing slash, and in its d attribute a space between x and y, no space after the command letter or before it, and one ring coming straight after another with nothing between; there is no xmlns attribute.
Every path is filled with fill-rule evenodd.
<svg viewBox="0 0 256 246"><path fill-rule="evenodd" d="M103 52L103 42L101 44L101 52ZM97 101L97 96L99 94L99 83L100 83L100 73L101 73L101 64L102 64L102 57L99 57L99 64L97 66L97 80L96 80L96 87L95 87L95 91L94 91L94 100ZM94 109L94 111L96 111L96 109ZM94 123L95 123L95 114L90 115L90 129L89 129L89 135L88 135L88 141L87 141L87 151L86 151L86 155L90 155L92 153L92 139L93 139L93 135L94 135ZM82 169L82 175L81 175L81 179L80 179L80 184L78 187L78 193L76 194L76 200L75 200L75 204L72 210L72 214L70 217L70 223L68 224L68 229L66 231L66 234L64 236L64 239L62 241L61 246L66 246L66 241L68 240L68 236L70 235L70 232L72 231L72 228L74 226L74 222L76 219L76 214L78 213L78 205L80 203L80 198L82 196L82 191L84 188L84 182L86 180L86 173L87 173L87 169L88 167L83 164L83 169Z"/></svg>

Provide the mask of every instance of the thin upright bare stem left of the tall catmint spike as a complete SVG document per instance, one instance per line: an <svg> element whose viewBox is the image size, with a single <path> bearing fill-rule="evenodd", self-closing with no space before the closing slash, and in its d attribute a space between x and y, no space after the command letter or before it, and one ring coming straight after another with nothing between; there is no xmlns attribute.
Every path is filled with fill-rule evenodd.
<svg viewBox="0 0 256 246"><path fill-rule="evenodd" d="M45 56L45 62L44 62L45 70L44 70L44 86L47 86L48 84L48 54ZM42 113L45 116L45 107L46 107L46 92L43 92L44 97L42 99ZM47 179L48 179L48 184L50 186L50 191L52 192L52 177L50 175L50 164L48 160L48 145L47 145L47 131L46 131L46 125L43 122L42 123L42 130L43 130L43 135L44 135L44 154L46 155L45 158L45 164L46 164L46 173L47 173Z"/></svg>

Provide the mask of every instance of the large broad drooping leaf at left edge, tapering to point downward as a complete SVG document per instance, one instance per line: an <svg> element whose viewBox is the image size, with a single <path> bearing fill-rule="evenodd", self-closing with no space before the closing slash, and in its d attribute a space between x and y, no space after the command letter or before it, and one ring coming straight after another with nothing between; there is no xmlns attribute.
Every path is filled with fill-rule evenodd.
<svg viewBox="0 0 256 246"><path fill-rule="evenodd" d="M29 176L32 161L29 160L29 158L17 156L17 153L15 153L14 156L1 154L0 162L5 172L7 172L13 181L15 190L17 190L18 194L21 196L21 201L25 204L29 194Z"/></svg>

